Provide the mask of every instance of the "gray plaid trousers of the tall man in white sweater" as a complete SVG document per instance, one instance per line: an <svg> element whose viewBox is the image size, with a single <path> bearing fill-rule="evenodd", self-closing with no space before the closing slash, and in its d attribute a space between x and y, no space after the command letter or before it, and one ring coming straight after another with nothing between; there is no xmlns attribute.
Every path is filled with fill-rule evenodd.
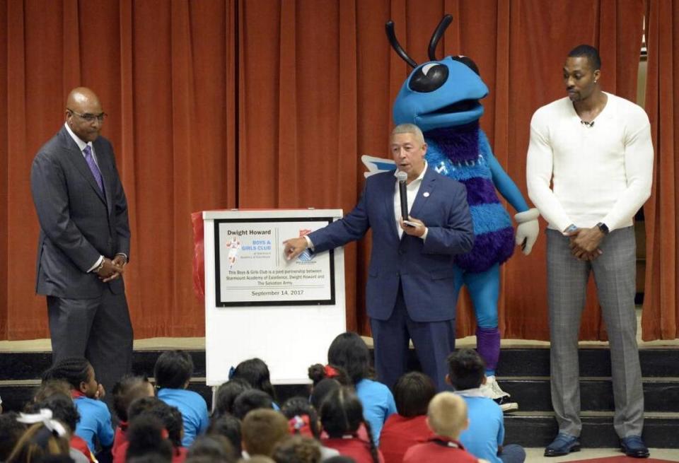
<svg viewBox="0 0 679 463"><path fill-rule="evenodd" d="M613 426L620 438L642 434L644 392L634 312L636 248L634 228L621 228L602 240L603 254L592 262L583 262L571 254L569 238L547 230L552 406L560 433L579 436L582 429L578 332L587 280L593 271L610 344Z"/></svg>

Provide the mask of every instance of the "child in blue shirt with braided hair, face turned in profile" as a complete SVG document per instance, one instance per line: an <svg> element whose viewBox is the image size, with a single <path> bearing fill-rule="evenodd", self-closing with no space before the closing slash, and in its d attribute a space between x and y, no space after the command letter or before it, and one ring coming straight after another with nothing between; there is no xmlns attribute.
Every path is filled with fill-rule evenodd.
<svg viewBox="0 0 679 463"><path fill-rule="evenodd" d="M113 445L111 412L99 400L105 391L97 382L92 365L83 357L64 358L42 376L43 382L48 380L64 380L71 387L71 396L80 414L74 434L87 443L93 454L98 453L99 448L107 451Z"/></svg>

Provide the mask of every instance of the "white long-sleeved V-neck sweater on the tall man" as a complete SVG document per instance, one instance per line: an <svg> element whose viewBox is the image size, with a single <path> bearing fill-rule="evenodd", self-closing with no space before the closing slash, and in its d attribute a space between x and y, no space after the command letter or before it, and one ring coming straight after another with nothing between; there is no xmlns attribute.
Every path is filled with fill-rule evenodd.
<svg viewBox="0 0 679 463"><path fill-rule="evenodd" d="M581 124L569 98L540 107L530 122L528 196L550 228L632 225L651 194L649 118L642 107L606 95L592 127Z"/></svg>

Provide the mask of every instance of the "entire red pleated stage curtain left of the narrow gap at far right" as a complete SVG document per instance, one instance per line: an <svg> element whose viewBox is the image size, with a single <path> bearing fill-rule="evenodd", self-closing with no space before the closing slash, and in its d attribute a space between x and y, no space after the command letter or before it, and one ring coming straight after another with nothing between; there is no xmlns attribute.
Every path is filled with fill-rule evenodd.
<svg viewBox="0 0 679 463"><path fill-rule="evenodd" d="M202 336L192 293L190 213L204 209L337 208L364 181L361 154L388 156L390 110L410 69L384 35L418 62L444 13L444 54L477 61L490 89L482 127L500 163L525 187L533 111L564 95L572 47L600 47L603 87L634 99L642 0L0 0L0 339L47 336L33 295L37 221L28 172L63 122L66 93L97 91L110 118L132 214L126 279L137 338ZM513 211L511 211L513 213ZM547 339L544 237L503 267L501 329ZM347 246L347 326L366 333L369 240ZM460 335L473 330L467 298ZM581 336L601 336L592 297Z"/></svg>

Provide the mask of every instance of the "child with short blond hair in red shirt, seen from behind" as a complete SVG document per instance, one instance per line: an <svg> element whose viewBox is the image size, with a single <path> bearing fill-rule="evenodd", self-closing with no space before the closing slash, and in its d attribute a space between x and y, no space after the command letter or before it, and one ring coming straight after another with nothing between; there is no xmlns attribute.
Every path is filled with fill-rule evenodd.
<svg viewBox="0 0 679 463"><path fill-rule="evenodd" d="M429 402L426 423L436 434L428 442L405 452L403 463L477 463L477 459L460 444L460 433L469 426L467 404L452 392L439 392Z"/></svg>

